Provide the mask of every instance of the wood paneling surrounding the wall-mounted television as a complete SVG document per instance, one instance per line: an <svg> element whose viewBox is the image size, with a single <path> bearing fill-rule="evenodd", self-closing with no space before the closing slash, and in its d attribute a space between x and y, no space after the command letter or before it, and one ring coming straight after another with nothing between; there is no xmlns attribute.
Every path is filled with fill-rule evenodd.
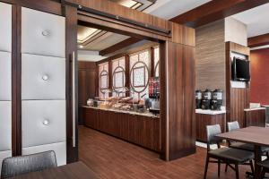
<svg viewBox="0 0 269 179"><path fill-rule="evenodd" d="M226 121L239 121L241 127L246 127L244 109L249 108L249 86L243 89L231 87L231 52L249 56L250 50L248 47L226 42Z"/></svg>

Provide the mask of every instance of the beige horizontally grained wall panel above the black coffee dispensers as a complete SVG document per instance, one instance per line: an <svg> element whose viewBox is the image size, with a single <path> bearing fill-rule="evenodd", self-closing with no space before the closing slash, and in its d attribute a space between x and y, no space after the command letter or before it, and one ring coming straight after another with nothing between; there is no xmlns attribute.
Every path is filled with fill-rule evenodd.
<svg viewBox="0 0 269 179"><path fill-rule="evenodd" d="M225 43L224 21L215 21L195 30L196 90L224 90L225 105Z"/></svg>

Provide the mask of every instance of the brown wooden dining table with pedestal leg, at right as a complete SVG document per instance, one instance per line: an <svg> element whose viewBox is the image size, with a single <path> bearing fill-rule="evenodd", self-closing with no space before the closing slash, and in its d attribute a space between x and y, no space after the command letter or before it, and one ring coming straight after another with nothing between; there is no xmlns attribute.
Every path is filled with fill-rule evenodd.
<svg viewBox="0 0 269 179"><path fill-rule="evenodd" d="M269 147L269 128L250 126L241 128L232 132L224 132L216 135L216 137L227 141L240 141L254 145L255 154L255 174L254 178L260 178L261 166L258 165L262 161L261 147Z"/></svg>

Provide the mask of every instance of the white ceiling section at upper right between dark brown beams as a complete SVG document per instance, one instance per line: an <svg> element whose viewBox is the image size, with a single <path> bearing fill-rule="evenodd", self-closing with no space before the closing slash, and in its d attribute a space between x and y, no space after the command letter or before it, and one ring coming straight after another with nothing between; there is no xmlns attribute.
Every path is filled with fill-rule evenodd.
<svg viewBox="0 0 269 179"><path fill-rule="evenodd" d="M232 17L247 24L247 37L269 33L269 4L238 13Z"/></svg>

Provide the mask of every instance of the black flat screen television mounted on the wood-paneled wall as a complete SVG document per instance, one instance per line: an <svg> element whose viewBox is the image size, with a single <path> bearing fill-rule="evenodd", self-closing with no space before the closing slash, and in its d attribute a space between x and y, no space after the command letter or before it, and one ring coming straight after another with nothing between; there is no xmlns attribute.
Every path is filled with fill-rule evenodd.
<svg viewBox="0 0 269 179"><path fill-rule="evenodd" d="M233 58L232 64L232 79L233 81L250 81L249 61Z"/></svg>

